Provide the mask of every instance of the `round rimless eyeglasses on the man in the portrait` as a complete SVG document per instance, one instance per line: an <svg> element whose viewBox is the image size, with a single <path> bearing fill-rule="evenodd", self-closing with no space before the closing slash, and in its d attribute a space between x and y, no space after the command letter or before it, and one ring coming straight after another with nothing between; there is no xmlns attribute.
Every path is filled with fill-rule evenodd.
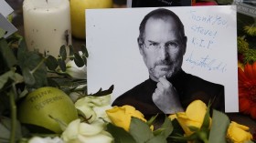
<svg viewBox="0 0 256 143"><path fill-rule="evenodd" d="M161 47L165 47L168 50L172 50L172 49L179 48L180 44L178 42L172 41L172 42L165 43L164 46L161 46L161 44L157 43L157 42L148 42L148 44L146 44L144 42L144 46L149 48L149 49L152 49L152 50L160 50Z"/></svg>

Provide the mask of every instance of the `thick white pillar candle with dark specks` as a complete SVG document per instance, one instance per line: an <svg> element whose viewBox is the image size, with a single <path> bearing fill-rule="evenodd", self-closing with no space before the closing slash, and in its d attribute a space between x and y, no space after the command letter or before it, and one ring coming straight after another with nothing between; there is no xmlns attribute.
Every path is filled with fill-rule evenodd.
<svg viewBox="0 0 256 143"><path fill-rule="evenodd" d="M23 16L28 50L59 56L71 44L69 0L25 0Z"/></svg>

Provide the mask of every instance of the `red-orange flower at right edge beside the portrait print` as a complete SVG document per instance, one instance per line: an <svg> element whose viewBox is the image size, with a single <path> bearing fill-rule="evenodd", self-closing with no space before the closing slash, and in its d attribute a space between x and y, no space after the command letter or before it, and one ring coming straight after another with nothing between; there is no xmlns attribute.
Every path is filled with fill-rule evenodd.
<svg viewBox="0 0 256 143"><path fill-rule="evenodd" d="M240 112L256 118L256 62L239 67Z"/></svg>

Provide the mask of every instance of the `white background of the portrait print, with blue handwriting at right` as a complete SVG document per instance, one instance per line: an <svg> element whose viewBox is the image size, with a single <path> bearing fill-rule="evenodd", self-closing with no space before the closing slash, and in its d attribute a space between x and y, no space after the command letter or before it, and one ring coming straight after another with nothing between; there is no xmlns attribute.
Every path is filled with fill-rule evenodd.
<svg viewBox="0 0 256 143"><path fill-rule="evenodd" d="M139 25L156 7L86 12L88 92L114 85L112 100L149 78L137 43ZM238 111L237 11L233 5L165 7L187 36L182 69L225 86L226 112Z"/></svg>

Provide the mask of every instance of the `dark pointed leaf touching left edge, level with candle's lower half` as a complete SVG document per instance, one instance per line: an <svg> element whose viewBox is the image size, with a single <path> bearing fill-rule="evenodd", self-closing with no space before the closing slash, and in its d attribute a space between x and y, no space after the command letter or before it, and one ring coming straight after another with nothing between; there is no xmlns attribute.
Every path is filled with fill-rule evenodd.
<svg viewBox="0 0 256 143"><path fill-rule="evenodd" d="M0 54L2 55L6 66L8 66L9 68L17 64L16 56L14 55L13 51L8 46L4 38L0 39Z"/></svg>

